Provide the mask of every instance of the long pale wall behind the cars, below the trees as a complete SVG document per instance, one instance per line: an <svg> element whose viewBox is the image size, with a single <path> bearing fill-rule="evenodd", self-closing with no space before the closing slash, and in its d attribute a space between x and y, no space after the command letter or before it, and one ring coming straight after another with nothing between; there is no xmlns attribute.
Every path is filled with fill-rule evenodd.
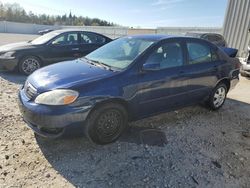
<svg viewBox="0 0 250 188"><path fill-rule="evenodd" d="M27 23L16 23L0 21L0 32L2 33L20 33L20 34L37 34L38 31L44 29L62 29L76 28L86 31L93 31L118 38L128 34L174 34L184 35L186 32L215 32L221 33L222 28L206 28L206 27L159 27L157 29L130 29L128 27L104 27L104 26L53 26L53 25L38 25Z"/></svg>

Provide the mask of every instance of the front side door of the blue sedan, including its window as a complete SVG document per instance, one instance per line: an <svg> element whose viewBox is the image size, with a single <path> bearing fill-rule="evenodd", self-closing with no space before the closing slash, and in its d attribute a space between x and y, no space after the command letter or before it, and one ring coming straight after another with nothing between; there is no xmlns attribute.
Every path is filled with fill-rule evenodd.
<svg viewBox="0 0 250 188"><path fill-rule="evenodd" d="M146 64L157 64L159 68L143 70L139 75L139 116L168 111L187 102L188 78L181 42L162 43L148 56Z"/></svg>

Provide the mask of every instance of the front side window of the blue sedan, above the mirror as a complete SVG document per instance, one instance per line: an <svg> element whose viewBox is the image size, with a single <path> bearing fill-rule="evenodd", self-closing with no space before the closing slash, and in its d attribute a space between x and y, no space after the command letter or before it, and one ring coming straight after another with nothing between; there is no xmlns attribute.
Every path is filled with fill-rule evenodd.
<svg viewBox="0 0 250 188"><path fill-rule="evenodd" d="M146 64L158 64L160 69L183 65L183 52L179 43L166 43L158 47L147 59Z"/></svg>

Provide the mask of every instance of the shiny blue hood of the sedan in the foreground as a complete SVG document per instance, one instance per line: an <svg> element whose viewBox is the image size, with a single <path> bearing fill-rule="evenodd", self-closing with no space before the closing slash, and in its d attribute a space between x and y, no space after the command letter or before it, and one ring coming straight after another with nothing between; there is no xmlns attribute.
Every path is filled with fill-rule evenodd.
<svg viewBox="0 0 250 188"><path fill-rule="evenodd" d="M83 59L76 59L38 69L28 77L28 82L41 93L86 84L112 76L115 73L103 67L89 64Z"/></svg>

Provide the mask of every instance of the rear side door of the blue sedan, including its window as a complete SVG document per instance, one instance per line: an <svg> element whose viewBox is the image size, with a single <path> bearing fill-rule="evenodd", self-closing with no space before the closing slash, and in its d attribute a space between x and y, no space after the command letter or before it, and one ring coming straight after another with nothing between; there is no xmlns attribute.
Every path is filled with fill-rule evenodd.
<svg viewBox="0 0 250 188"><path fill-rule="evenodd" d="M221 62L216 49L201 40L186 39L186 51L189 99L190 102L198 102L216 85Z"/></svg>

